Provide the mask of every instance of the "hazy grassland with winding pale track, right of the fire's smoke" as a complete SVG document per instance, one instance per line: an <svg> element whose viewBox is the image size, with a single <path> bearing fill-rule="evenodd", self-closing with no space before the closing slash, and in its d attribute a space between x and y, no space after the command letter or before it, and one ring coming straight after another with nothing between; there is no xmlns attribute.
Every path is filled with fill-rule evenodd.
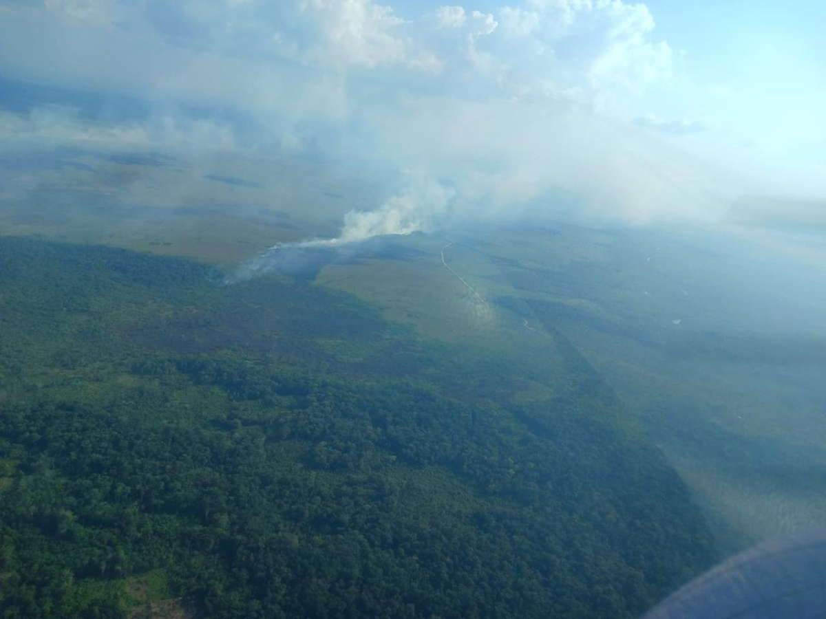
<svg viewBox="0 0 826 619"><path fill-rule="evenodd" d="M693 233L557 224L460 234L446 259L486 304L444 268L447 242L430 235L395 241L421 250L415 260L331 264L316 281L429 337L485 347L481 357L532 376L523 397L543 398L529 385L558 391L567 362L549 343L567 339L689 485L724 554L824 526L819 273ZM497 385L458 383L453 394Z"/></svg>

